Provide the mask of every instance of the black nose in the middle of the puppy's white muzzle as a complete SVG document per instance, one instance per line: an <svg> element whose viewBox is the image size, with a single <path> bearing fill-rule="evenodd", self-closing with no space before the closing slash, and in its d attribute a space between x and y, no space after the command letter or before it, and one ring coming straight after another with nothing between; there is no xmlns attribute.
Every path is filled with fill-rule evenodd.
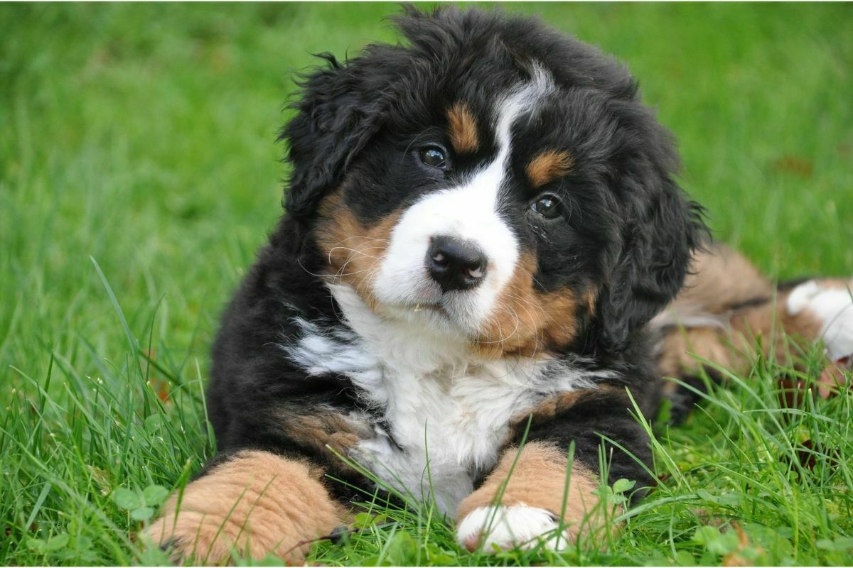
<svg viewBox="0 0 853 568"><path fill-rule="evenodd" d="M427 251L427 269L442 292L472 289L483 281L487 263L476 244L461 238L433 237Z"/></svg>

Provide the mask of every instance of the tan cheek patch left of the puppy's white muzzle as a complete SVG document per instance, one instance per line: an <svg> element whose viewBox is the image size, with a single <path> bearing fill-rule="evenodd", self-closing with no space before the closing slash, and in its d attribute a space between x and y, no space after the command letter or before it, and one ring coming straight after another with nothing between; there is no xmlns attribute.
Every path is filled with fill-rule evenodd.
<svg viewBox="0 0 853 568"><path fill-rule="evenodd" d="M320 207L317 241L328 261L328 276L334 283L350 284L375 307L372 284L391 242L391 232L400 213L394 212L373 226L357 221L339 193L324 199Z"/></svg>

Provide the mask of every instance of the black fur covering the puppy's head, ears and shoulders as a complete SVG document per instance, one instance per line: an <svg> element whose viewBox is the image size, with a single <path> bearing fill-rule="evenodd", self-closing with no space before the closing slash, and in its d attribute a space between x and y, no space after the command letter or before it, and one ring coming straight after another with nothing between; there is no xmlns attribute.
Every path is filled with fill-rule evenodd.
<svg viewBox="0 0 853 568"><path fill-rule="evenodd" d="M659 377L643 327L681 288L704 225L699 207L676 185L670 135L641 105L635 81L595 49L529 18L408 9L397 25L407 45L370 45L345 62L322 55L326 65L305 77L297 113L281 133L292 166L287 212L224 313L213 348L208 397L219 450L306 457L334 477L367 485L277 420L282 413L361 408L349 378L306 376L279 347L299 335L295 317L344 325L316 276L324 261L316 240L318 204L342 188L346 206L369 224L424 192L452 185L495 152L487 109L496 93L529 76L531 60L551 73L559 91L541 116L519 129L514 144L572 147L571 175L548 188L571 211L561 224L537 225L525 216L537 190L515 175L531 158L524 156L513 164L514 197L502 213L523 248L536 253L541 290L597 291L595 313L583 318L577 339L548 347L614 370L612 382L628 387L641 410L653 413ZM445 112L459 99L471 102L483 144L456 157L449 174L427 174L407 150L422 139L448 146ZM601 435L650 464L645 433L624 393L591 395L563 416L533 423L528 439L564 447L574 441L577 459L597 470ZM646 469L619 450L610 473L653 484ZM343 487L336 491L350 495Z"/></svg>

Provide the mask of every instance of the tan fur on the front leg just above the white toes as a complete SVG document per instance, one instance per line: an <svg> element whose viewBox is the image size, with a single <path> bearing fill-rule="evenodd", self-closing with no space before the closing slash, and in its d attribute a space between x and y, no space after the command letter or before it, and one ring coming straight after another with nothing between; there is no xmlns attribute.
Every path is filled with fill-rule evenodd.
<svg viewBox="0 0 853 568"><path fill-rule="evenodd" d="M599 479L593 473L575 462L572 465L568 495L564 499L567 458L563 451L554 445L531 442L520 450L513 468L516 454L519 454L518 448L504 451L485 483L461 502L456 512L457 523L474 509L494 504L504 481L509 478L501 498L502 505L524 504L560 515L566 523L571 524L568 531L572 538L576 538L581 531L591 532L601 526L603 514L600 513L603 512L601 508L595 507L599 498L594 494ZM589 517L584 519L588 514Z"/></svg>

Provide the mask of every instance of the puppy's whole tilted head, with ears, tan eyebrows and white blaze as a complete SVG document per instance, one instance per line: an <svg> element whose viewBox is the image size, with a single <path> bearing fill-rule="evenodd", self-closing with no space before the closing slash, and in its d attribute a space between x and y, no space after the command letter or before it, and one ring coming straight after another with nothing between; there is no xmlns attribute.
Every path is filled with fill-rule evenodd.
<svg viewBox="0 0 853 568"><path fill-rule="evenodd" d="M282 134L328 278L491 356L624 346L701 228L628 72L537 20L398 24L408 46L327 56Z"/></svg>

